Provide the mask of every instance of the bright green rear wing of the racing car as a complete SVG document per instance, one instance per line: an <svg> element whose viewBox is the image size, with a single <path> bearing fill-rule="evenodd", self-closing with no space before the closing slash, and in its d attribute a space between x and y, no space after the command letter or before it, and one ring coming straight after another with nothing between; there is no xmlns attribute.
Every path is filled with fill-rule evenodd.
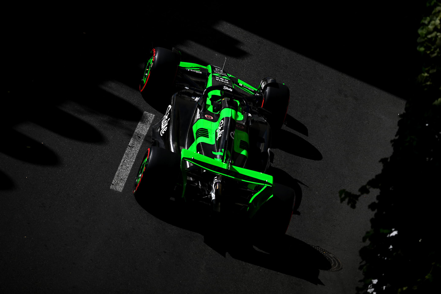
<svg viewBox="0 0 441 294"><path fill-rule="evenodd" d="M209 171L213 175L221 175L234 179L238 182L243 182L244 186L254 191L248 203L249 216L253 216L258 208L273 196L273 176L264 174L250 169L236 167L221 160L216 160L208 156L204 156L193 151L181 150L181 170L183 174L183 197L185 194L185 186L187 184L187 172L189 170L185 167L187 161L192 165L200 167L202 170Z"/></svg>

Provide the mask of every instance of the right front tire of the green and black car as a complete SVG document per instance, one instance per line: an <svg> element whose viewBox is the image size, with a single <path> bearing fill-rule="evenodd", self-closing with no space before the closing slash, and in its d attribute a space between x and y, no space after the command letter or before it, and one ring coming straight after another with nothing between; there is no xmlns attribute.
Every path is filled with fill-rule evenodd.
<svg viewBox="0 0 441 294"><path fill-rule="evenodd" d="M274 78L263 79L259 89L263 94L262 108L271 112L267 117L268 123L277 131L282 127L288 112L289 89Z"/></svg>

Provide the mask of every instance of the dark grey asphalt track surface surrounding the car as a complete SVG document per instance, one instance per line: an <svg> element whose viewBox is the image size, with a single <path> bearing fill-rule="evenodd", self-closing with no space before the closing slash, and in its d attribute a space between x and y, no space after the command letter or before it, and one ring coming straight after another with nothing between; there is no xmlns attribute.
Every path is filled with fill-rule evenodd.
<svg viewBox="0 0 441 294"><path fill-rule="evenodd" d="M358 59L321 53L313 49L321 41L299 45L306 34L296 38L292 26L284 38L253 27L219 17L195 21L185 33L158 28L139 37L128 25L86 22L61 36L46 23L30 28L33 51L17 32L7 35L16 57L3 89L2 293L355 292L374 197L353 210L340 204L338 191L356 191L381 171L405 100L393 91L397 81L381 78L384 60L366 57L371 47ZM329 46L333 37L324 40ZM123 190L111 188L143 114L154 115L152 124L162 117L137 89L152 42L178 47L184 61L222 66L227 57L225 70L251 85L268 76L288 85L288 123L271 165L280 181L297 187L301 203L276 249L228 247L234 240L221 248L204 236L203 214L141 207L131 188L151 127ZM31 73L17 81L23 69ZM323 252L342 269L329 271Z"/></svg>

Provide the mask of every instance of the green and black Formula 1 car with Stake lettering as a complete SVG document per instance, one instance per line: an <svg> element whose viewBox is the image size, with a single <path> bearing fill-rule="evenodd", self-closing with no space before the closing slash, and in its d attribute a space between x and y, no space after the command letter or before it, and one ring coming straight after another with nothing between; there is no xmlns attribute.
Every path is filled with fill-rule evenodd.
<svg viewBox="0 0 441 294"><path fill-rule="evenodd" d="M147 59L139 89L165 112L152 127L133 194L152 205L202 201L212 213L242 214L258 231L284 234L295 193L266 172L288 87L264 78L255 88L221 67L180 57L176 48L153 48Z"/></svg>

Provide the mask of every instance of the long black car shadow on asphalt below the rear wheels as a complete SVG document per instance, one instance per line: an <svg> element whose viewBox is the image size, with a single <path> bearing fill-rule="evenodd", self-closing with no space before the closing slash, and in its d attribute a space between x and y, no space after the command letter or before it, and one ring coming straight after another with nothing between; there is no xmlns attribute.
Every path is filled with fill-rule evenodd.
<svg viewBox="0 0 441 294"><path fill-rule="evenodd" d="M213 250L226 256L273 271L323 285L320 270L336 271L340 261L325 249L309 245L287 234L268 238L253 234L246 221L238 218L210 216L210 207L201 202L179 203L169 201L163 209L137 199L150 214L166 223L204 236L204 242Z"/></svg>

